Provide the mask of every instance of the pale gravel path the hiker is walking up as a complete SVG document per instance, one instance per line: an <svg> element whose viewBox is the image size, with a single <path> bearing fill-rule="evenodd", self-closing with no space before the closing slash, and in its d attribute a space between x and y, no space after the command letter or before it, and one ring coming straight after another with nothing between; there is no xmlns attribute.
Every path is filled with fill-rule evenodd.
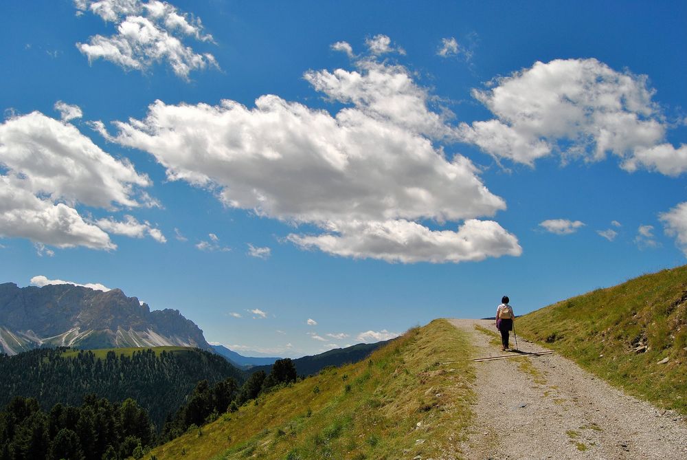
<svg viewBox="0 0 687 460"><path fill-rule="evenodd" d="M480 357L505 354L475 329L496 332L493 321L450 321L471 334ZM521 338L518 344L521 351L545 351ZM560 355L475 362L475 368L476 420L461 446L467 459L687 459L682 417L625 395Z"/></svg>

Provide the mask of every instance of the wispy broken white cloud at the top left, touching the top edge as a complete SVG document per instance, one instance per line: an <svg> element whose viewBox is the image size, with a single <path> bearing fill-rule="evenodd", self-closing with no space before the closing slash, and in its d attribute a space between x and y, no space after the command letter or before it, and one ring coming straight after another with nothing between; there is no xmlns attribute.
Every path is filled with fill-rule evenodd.
<svg viewBox="0 0 687 460"><path fill-rule="evenodd" d="M183 43L188 37L212 42L212 36L203 32L201 20L179 12L170 3L76 0L75 6L80 12L90 11L117 26L112 36L98 34L91 36L88 43L76 44L89 62L103 58L124 69L145 71L153 63L165 61L184 80L192 70L218 67L212 54L197 53Z"/></svg>

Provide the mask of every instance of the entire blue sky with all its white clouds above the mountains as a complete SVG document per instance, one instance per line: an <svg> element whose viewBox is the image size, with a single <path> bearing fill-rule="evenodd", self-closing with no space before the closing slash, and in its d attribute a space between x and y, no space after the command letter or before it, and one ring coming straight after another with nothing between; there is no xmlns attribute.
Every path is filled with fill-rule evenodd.
<svg viewBox="0 0 687 460"><path fill-rule="evenodd" d="M0 3L0 281L297 357L687 258L683 1Z"/></svg>

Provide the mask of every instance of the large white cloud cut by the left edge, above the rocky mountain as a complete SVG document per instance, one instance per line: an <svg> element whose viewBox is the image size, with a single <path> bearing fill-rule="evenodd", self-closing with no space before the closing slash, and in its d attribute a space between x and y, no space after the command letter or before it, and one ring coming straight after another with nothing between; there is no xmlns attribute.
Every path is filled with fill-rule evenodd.
<svg viewBox="0 0 687 460"><path fill-rule="evenodd" d="M128 160L105 153L68 122L35 111L0 124L2 236L58 248L115 249L77 206L155 206L142 191L151 184Z"/></svg>

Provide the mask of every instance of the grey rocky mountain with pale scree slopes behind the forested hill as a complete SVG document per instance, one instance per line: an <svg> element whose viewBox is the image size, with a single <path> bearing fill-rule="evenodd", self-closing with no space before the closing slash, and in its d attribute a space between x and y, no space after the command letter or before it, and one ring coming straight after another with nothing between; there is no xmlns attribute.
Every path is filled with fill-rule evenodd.
<svg viewBox="0 0 687 460"><path fill-rule="evenodd" d="M8 355L38 347L197 347L203 331L178 310L150 311L120 289L0 284L0 347Z"/></svg>

